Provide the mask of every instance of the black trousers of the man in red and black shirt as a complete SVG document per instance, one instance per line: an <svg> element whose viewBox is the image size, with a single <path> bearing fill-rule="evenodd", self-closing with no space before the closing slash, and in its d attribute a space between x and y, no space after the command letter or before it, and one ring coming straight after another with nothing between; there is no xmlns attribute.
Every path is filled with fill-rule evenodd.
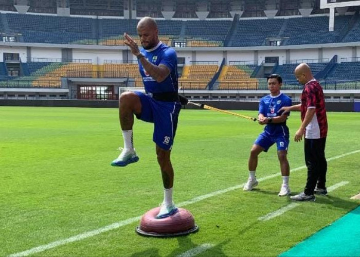
<svg viewBox="0 0 360 257"><path fill-rule="evenodd" d="M314 189L325 189L328 163L325 158L326 137L319 139L305 138L305 163L308 167L308 180L304 189L306 195L314 194Z"/></svg>

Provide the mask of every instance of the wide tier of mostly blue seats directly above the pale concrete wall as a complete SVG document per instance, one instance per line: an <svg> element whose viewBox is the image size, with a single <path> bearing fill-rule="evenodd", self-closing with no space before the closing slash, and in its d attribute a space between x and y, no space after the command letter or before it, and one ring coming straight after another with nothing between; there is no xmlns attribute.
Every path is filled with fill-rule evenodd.
<svg viewBox="0 0 360 257"><path fill-rule="evenodd" d="M124 32L137 38L137 20L15 13L3 13L0 18L0 32L6 30L5 18L9 32L24 42L123 45ZM232 26L233 23L236 26ZM158 20L157 24L164 43L171 45L173 39L177 39L187 41L187 46L192 47L265 46L274 38L280 39L281 45L356 42L360 39L359 15L336 16L335 29L330 32L328 16L238 21Z"/></svg>

